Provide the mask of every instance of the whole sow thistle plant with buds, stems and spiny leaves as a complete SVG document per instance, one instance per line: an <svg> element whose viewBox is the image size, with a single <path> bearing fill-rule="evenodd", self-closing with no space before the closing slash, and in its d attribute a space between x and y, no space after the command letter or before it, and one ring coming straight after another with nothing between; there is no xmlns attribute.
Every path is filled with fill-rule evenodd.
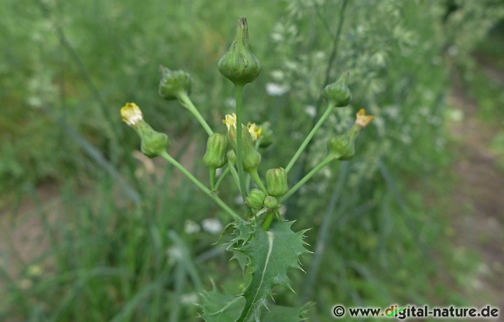
<svg viewBox="0 0 504 322"><path fill-rule="evenodd" d="M351 102L351 92L346 85L348 74L344 74L335 83L323 89L322 95L328 102L325 113L290 162L285 168L267 170L265 181L262 181L258 173L260 149L272 144L274 134L268 123L244 125L241 117L244 87L258 78L261 71L260 62L253 55L248 41L246 18L238 20L235 41L219 60L218 70L235 85L236 113L224 117L225 126L221 130L225 131L225 134L214 132L191 102L189 95L192 81L189 74L160 67L160 96L167 100L178 99L193 113L209 136L207 151L203 156L204 164L209 168L208 186L169 155L169 138L146 123L137 104L127 103L120 111L121 116L125 123L139 134L142 153L149 158L159 156L174 165L233 220L225 229L225 232L232 231L232 239L226 246L228 251L233 253L232 258L239 262L243 272L251 272L251 281L239 295L221 293L215 284L212 290L204 291L200 303L202 318L207 322L302 321L304 307L281 307L268 303L273 298L274 286L293 290L287 272L290 269L301 269L300 256L310 253L304 242L307 230L291 230L293 221L283 218L282 204L330 162L349 160L355 153L354 144L360 130L374 118L366 116L363 109L358 111L353 126L345 133L330 139L327 157L295 186L289 188L289 171L318 128L334 109L348 106ZM216 170L221 168L225 169L216 180ZM218 196L218 189L229 174L231 180L235 181L244 204L238 212ZM251 181L257 188L251 188Z"/></svg>

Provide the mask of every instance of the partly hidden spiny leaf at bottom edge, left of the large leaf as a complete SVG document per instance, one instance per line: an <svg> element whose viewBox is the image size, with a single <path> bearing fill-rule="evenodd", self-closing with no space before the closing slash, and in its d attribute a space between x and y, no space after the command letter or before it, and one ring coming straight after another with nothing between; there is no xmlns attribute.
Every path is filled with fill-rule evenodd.
<svg viewBox="0 0 504 322"><path fill-rule="evenodd" d="M202 318L207 322L232 322L236 321L244 306L242 297L228 293L221 293L213 286L210 292L202 293L203 308Z"/></svg>

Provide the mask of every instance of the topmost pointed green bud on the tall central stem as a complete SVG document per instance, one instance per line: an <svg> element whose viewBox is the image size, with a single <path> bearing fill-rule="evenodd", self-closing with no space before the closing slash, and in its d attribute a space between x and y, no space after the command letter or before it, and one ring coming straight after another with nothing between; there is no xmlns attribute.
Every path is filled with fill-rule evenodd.
<svg viewBox="0 0 504 322"><path fill-rule="evenodd" d="M261 70L260 62L251 50L248 42L248 26L246 18L238 20L235 41L217 64L218 70L225 78L235 85L252 83L258 78Z"/></svg>

